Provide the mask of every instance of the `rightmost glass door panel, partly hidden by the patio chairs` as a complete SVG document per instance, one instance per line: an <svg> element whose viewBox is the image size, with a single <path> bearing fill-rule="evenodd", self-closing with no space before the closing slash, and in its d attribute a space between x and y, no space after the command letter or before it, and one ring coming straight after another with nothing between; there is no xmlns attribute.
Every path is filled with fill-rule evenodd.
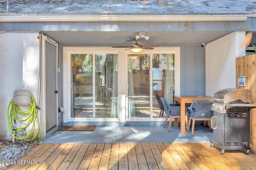
<svg viewBox="0 0 256 170"><path fill-rule="evenodd" d="M153 54L152 63L153 117L160 117L155 95L166 98L169 104L174 103L175 56L174 54Z"/></svg>

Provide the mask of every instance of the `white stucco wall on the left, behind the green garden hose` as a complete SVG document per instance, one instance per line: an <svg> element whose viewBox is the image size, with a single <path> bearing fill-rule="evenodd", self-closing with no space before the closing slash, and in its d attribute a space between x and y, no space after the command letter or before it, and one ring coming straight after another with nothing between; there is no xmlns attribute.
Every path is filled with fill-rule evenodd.
<svg viewBox="0 0 256 170"><path fill-rule="evenodd" d="M12 139L7 108L14 90L30 90L38 101L40 70L38 33L0 34L0 139Z"/></svg>

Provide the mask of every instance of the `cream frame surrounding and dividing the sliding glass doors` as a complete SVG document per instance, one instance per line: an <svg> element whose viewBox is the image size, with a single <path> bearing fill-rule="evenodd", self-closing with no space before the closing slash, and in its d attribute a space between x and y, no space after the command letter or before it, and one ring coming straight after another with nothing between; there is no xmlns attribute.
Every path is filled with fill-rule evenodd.
<svg viewBox="0 0 256 170"><path fill-rule="evenodd" d="M128 119L128 80L124 81L124 77L128 78L128 54L138 54L132 51L126 51L127 48L112 48L112 47L63 47L63 123L68 122L128 122L128 121L163 121L164 118L150 118L150 119ZM70 81L71 63L70 55L78 53L91 53L93 56L96 53L115 53L118 54L118 118L71 118L71 96L72 84ZM141 54L150 54L152 59L153 53L172 53L175 54L175 96L180 96L180 47L156 47L152 50L144 49ZM95 58L93 57L93 68L95 68ZM152 66L150 67L152 71ZM151 75L152 76L152 75ZM95 81L95 72L93 72ZM152 81L152 77L150 79ZM95 83L95 82L94 82ZM93 90L95 103L95 89ZM152 101L152 89L150 89L150 100ZM121 106L122 105L122 106ZM95 106L94 106L95 107ZM150 104L152 112L152 104ZM95 112L95 109L94 109Z"/></svg>

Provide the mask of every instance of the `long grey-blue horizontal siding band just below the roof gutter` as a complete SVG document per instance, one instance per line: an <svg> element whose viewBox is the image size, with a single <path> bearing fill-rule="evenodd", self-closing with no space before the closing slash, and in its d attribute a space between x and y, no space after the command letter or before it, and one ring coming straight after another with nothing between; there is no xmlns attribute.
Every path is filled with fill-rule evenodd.
<svg viewBox="0 0 256 170"><path fill-rule="evenodd" d="M0 31L256 31L256 18L246 21L98 21L1 22Z"/></svg>

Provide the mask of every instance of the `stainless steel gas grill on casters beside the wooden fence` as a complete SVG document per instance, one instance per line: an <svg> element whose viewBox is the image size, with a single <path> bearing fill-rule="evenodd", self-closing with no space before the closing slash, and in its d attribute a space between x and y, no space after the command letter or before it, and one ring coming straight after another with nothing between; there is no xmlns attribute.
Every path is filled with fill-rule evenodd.
<svg viewBox="0 0 256 170"><path fill-rule="evenodd" d="M228 88L220 90L211 99L213 140L211 147L217 147L220 154L225 150L245 149L250 152L250 104L248 89Z"/></svg>

